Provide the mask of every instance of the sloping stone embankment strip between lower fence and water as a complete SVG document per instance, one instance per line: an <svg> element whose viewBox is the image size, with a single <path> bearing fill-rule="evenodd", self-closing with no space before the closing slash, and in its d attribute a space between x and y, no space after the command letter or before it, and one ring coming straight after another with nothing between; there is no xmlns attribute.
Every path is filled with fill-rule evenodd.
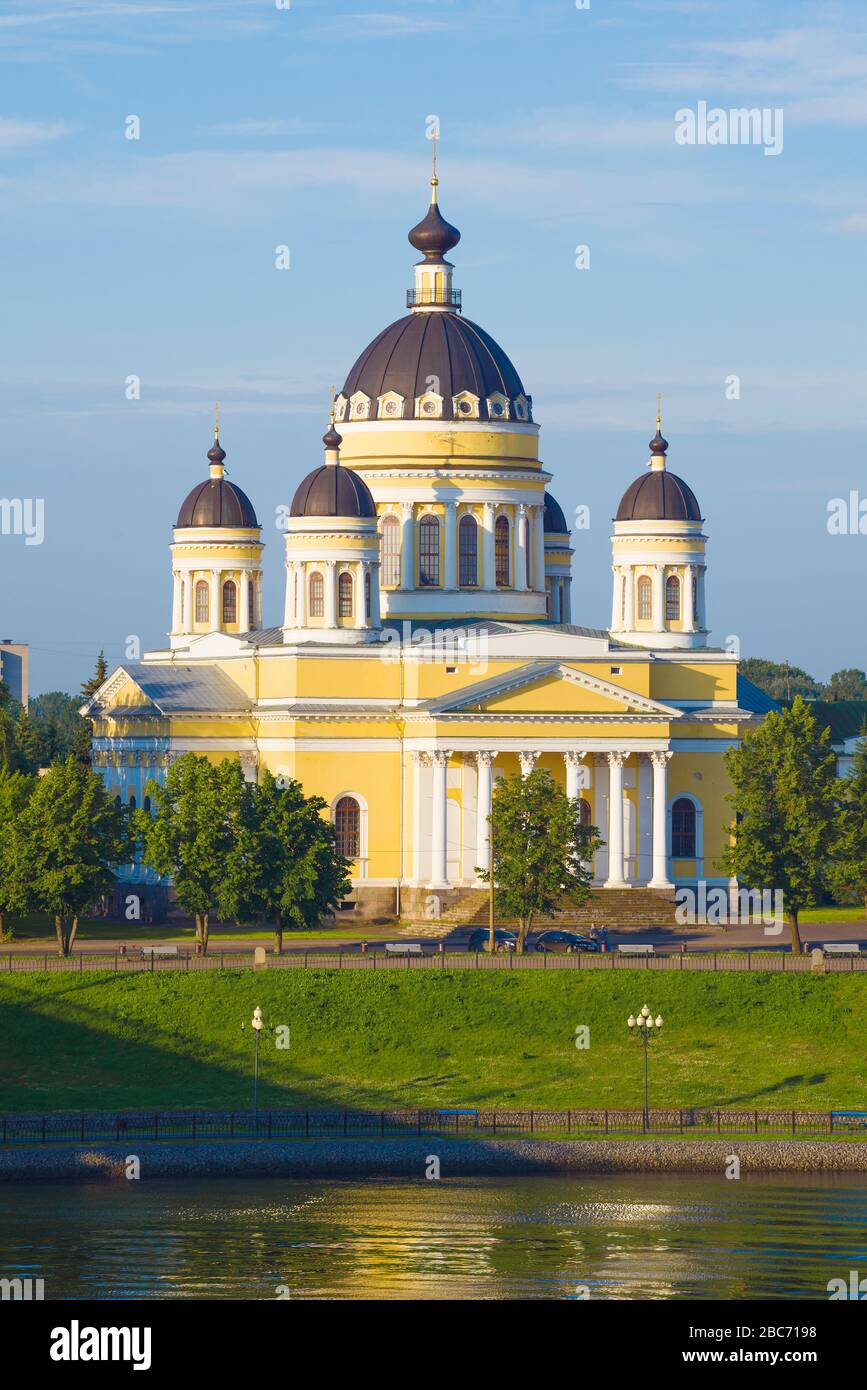
<svg viewBox="0 0 867 1390"><path fill-rule="evenodd" d="M553 1173L867 1173L867 1144L839 1140L310 1140L136 1143L0 1150L0 1184L218 1177L439 1177ZM138 1163L138 1170L136 1170Z"/></svg>

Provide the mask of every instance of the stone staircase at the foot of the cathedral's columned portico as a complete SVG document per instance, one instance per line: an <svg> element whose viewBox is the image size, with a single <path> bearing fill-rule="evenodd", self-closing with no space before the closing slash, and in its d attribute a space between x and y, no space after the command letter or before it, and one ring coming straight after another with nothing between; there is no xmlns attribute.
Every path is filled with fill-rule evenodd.
<svg viewBox="0 0 867 1390"><path fill-rule="evenodd" d="M563 927L565 931L589 931L591 927L609 927L611 931L642 931L647 927L674 927L674 892L660 892L654 888L595 888L592 898L582 906L564 905L561 910L549 913L534 922L534 929ZM443 912L436 923L418 923L414 930L421 934L425 927L431 935L442 935L443 929L486 927L488 897L479 891L463 892ZM497 915L497 927L514 927Z"/></svg>

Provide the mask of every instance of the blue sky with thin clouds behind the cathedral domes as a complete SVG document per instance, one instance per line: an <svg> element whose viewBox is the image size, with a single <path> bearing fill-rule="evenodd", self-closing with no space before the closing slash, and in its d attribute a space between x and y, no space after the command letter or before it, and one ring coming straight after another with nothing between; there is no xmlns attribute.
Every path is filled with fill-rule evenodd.
<svg viewBox="0 0 867 1390"><path fill-rule="evenodd" d="M700 103L767 138L684 142ZM32 694L165 645L215 400L281 621L276 509L331 382L404 313L432 118L464 313L532 393L550 491L589 507L574 621L610 621L659 391L711 642L867 667L860 0L3 0L0 505L28 524L0 514L0 638L31 644Z"/></svg>

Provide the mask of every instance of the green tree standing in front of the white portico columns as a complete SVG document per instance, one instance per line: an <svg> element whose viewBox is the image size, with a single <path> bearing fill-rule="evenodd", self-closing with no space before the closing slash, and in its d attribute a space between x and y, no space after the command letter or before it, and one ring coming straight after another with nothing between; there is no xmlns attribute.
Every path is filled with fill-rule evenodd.
<svg viewBox="0 0 867 1390"><path fill-rule="evenodd" d="M517 917L522 952L534 917L591 897L591 862L603 841L596 826L582 824L581 803L542 769L502 778L488 820L495 828L495 901L504 916ZM477 873L490 881L488 870Z"/></svg>

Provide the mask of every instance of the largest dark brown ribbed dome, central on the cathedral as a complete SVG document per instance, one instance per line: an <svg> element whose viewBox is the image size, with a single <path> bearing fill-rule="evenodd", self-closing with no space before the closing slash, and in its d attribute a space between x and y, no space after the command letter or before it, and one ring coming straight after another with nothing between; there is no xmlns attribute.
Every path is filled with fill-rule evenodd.
<svg viewBox="0 0 867 1390"><path fill-rule="evenodd" d="M482 420L490 418L486 398L495 392L510 400L525 395L500 345L478 324L452 313L407 314L389 324L358 357L343 395L349 400L361 391L375 404L378 396L395 391L404 398L403 418L411 420L415 398L429 389L429 377L439 379L443 420L461 418L452 399L461 391L479 398Z"/></svg>

